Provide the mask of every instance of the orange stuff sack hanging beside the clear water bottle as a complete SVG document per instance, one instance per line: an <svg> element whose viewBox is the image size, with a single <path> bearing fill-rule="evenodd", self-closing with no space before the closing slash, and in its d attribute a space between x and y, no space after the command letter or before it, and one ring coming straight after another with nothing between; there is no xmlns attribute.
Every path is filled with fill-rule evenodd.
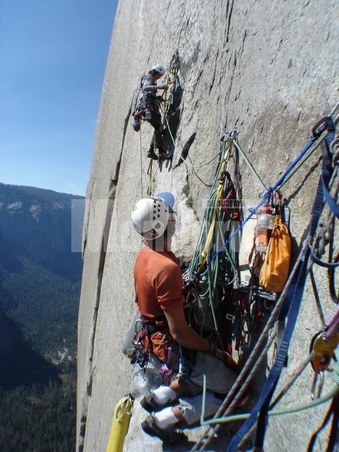
<svg viewBox="0 0 339 452"><path fill-rule="evenodd" d="M281 292L290 271L290 258L290 233L280 215L276 215L272 237L259 276L261 287L272 292Z"/></svg>

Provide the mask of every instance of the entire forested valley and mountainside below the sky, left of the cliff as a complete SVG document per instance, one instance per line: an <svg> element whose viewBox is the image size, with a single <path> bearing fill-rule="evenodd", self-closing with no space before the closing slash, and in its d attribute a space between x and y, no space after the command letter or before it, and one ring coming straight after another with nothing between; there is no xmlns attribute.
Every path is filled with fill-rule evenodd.
<svg viewBox="0 0 339 452"><path fill-rule="evenodd" d="M0 184L0 452L76 447L82 261L71 221L80 240L83 212L72 200Z"/></svg>

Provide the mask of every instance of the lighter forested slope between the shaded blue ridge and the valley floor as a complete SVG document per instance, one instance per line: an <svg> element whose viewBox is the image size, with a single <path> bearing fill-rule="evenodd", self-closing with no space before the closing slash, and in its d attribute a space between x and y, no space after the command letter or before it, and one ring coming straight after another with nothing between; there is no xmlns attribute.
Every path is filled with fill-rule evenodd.
<svg viewBox="0 0 339 452"><path fill-rule="evenodd" d="M34 350L55 356L66 347L74 357L80 281L54 275L28 258L18 260L19 271L0 266L2 308Z"/></svg>

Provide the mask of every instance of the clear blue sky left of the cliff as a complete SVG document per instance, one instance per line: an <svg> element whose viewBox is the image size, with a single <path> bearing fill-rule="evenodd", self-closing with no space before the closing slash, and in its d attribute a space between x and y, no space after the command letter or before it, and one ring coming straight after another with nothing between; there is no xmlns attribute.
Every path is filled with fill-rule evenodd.
<svg viewBox="0 0 339 452"><path fill-rule="evenodd" d="M0 0L0 182L85 194L117 0Z"/></svg>

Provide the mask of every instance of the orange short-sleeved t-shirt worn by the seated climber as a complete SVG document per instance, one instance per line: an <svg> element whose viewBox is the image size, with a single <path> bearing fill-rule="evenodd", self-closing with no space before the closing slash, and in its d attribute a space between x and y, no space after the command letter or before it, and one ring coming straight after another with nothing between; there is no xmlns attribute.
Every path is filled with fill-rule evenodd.
<svg viewBox="0 0 339 452"><path fill-rule="evenodd" d="M182 272L177 258L171 251L153 251L144 246L136 258L134 266L134 287L136 303L145 317L160 317L164 311L182 306L185 302L182 295ZM167 359L164 334L168 330L153 333L153 352L160 361ZM148 347L148 338L145 338Z"/></svg>

